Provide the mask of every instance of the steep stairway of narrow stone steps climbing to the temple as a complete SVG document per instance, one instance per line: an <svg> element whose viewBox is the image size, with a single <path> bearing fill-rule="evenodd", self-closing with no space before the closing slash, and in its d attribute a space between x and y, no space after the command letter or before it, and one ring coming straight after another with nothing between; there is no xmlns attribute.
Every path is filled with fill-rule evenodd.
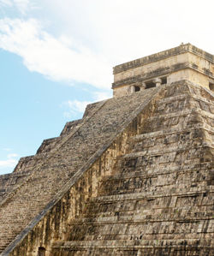
<svg viewBox="0 0 214 256"><path fill-rule="evenodd" d="M26 227L28 230L29 225L44 214L45 207L49 209L56 203L63 188L67 188L69 182L74 183L88 169L116 134L127 126L158 91L153 88L131 98L111 98L98 104L97 108L91 107L92 110L86 113L78 127L59 138L50 152L40 150L30 158L33 164L28 163L26 166L30 174L6 194L0 203L1 255L10 253L6 247L11 242L16 245L23 234L26 235ZM24 170L25 165L16 168L16 171ZM21 230L24 230L23 234Z"/></svg>

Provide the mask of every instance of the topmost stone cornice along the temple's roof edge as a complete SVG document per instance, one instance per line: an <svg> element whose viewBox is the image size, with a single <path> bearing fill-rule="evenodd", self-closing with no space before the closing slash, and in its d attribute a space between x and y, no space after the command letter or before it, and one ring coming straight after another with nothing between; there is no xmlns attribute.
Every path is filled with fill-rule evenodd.
<svg viewBox="0 0 214 256"><path fill-rule="evenodd" d="M173 56L179 55L181 53L185 53L185 52L192 52L193 54L195 54L199 57L203 57L207 61L214 63L214 56L211 53L203 51L194 45L186 44L186 45L180 45L178 47L175 47L175 48L172 48L172 49L169 49L166 51L160 51L156 54L142 57L142 58L136 59L136 60L128 62L128 63L122 63L120 65L117 65L116 67L113 68L113 74L118 74L118 73L121 73L122 71L126 71L126 70L132 69L132 68L137 68L137 67L146 65L148 63L158 62L165 58L173 57Z"/></svg>

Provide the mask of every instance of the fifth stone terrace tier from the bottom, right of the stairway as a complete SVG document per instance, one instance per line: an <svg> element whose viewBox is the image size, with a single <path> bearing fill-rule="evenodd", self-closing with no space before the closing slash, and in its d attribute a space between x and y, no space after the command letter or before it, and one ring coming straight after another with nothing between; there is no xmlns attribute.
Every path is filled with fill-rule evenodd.
<svg viewBox="0 0 214 256"><path fill-rule="evenodd" d="M197 149L169 151L163 149L163 154L153 151L150 155L143 152L134 152L125 155L115 166L116 175L130 173L141 173L157 176L159 173L167 174L187 170L211 169L211 150L212 147L198 147ZM180 169L179 169L180 168Z"/></svg>

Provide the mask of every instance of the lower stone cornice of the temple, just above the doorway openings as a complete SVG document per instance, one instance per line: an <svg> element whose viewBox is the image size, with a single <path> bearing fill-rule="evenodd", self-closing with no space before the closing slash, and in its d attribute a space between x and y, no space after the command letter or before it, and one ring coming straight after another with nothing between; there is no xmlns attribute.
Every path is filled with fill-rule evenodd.
<svg viewBox="0 0 214 256"><path fill-rule="evenodd" d="M175 72L175 71L178 71L181 69L185 69L185 68L191 68L201 74L208 75L211 79L214 79L214 74L212 74L211 71L208 69L205 69L205 68L203 70L199 69L199 67L194 63L178 63L175 65L166 67L166 68L157 68L157 69L152 70L151 72L148 72L145 74L136 75L134 77L128 77L124 80L118 80L118 81L112 83L112 89L119 87L119 86L132 84L137 81L150 80L154 77L167 75L172 72Z"/></svg>

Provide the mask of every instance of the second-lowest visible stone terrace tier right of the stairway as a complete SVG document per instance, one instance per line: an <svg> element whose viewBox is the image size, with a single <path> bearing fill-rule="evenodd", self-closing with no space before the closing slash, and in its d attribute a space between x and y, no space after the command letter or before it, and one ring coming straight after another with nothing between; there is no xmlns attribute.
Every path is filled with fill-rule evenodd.
<svg viewBox="0 0 214 256"><path fill-rule="evenodd" d="M148 225L149 223L149 225ZM214 219L205 220L181 220L181 221L150 221L142 223L80 223L74 224L69 229L69 241L76 240L132 240L132 238L143 239L170 239L171 237L201 238L201 234L206 234L211 238L213 234Z"/></svg>

